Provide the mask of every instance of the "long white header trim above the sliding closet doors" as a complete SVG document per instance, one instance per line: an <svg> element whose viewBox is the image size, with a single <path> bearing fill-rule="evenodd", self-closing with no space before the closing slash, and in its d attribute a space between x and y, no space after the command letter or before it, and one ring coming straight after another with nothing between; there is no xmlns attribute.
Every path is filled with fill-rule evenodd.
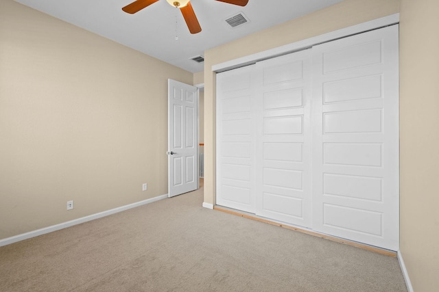
<svg viewBox="0 0 439 292"><path fill-rule="evenodd" d="M286 53L300 51L302 49L307 49L309 47L312 47L313 45L320 44L322 42L328 42L330 40L335 40L337 38L344 38L346 36L351 36L353 34L359 34L361 32L368 31L370 29L377 29L379 27L394 25L396 23L399 23L399 13L378 18L373 21L368 21L366 23L360 23L359 25L346 27L344 29L331 31L327 34L322 34L320 36L315 36L313 38L307 38L306 40L300 40L292 44L285 44L284 46L281 47L277 47L267 51L262 51L260 53L255 53L252 55L247 55L245 57L233 59L224 63L215 64L212 66L212 71L222 72L225 70L238 68L240 66L254 64L254 62L261 61L263 59L269 59L271 57L276 57L278 55L285 55Z"/></svg>

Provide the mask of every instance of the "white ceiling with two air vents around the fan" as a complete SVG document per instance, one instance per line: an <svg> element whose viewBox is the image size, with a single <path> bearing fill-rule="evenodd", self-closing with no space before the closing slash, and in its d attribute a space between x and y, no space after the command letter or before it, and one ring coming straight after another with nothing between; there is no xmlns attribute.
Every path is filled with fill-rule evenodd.
<svg viewBox="0 0 439 292"><path fill-rule="evenodd" d="M245 7L215 0L191 0L202 27L190 34L178 8L160 0L136 14L121 8L134 0L15 0L157 59L200 72L191 57L256 31L272 27L342 0L249 0ZM230 27L226 18L239 12L248 23ZM176 40L178 36L178 40Z"/></svg>

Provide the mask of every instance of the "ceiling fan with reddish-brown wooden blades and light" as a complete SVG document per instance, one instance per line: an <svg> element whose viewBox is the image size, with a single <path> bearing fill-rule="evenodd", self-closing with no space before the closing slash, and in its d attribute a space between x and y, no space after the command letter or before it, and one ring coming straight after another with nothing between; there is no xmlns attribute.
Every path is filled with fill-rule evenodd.
<svg viewBox="0 0 439 292"><path fill-rule="evenodd" d="M126 5L122 8L123 11L134 14L139 12L143 8L156 3L158 0L137 0L132 2L131 4ZM198 34L201 31L200 23L198 23L197 16L195 16L195 12L193 12L193 8L190 0L166 0L169 4L176 8L180 8L181 13L183 14L183 18L185 18L187 27L191 34ZM248 0L215 0L220 2L225 2L233 5L245 6L248 3Z"/></svg>

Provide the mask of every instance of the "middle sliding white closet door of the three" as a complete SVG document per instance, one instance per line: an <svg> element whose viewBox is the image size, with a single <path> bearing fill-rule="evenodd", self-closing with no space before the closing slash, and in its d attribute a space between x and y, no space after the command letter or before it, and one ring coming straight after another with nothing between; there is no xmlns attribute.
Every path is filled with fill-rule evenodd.
<svg viewBox="0 0 439 292"><path fill-rule="evenodd" d="M257 215L311 224L311 52L256 64Z"/></svg>

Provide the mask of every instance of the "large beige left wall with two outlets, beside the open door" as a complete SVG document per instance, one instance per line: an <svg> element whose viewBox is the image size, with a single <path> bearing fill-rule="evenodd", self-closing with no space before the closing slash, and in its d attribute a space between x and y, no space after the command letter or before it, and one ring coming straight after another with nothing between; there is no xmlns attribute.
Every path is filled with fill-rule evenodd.
<svg viewBox="0 0 439 292"><path fill-rule="evenodd" d="M167 194L168 78L193 82L1 0L0 239Z"/></svg>

